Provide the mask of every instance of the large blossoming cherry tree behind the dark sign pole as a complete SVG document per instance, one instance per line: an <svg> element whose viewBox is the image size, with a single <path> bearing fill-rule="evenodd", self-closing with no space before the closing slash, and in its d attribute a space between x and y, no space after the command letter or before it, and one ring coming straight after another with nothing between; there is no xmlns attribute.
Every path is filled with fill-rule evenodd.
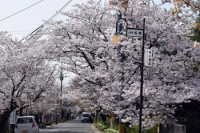
<svg viewBox="0 0 200 133"><path fill-rule="evenodd" d="M118 12L92 0L77 5L63 13L66 21L53 24L48 48L68 58L69 70L80 77L80 90L93 104L137 124L141 39L123 36L119 44L111 42ZM199 49L186 36L190 23L156 5L129 1L123 17L133 28L142 28L146 18L145 48L155 51L154 65L145 66L144 74L143 119L152 126L173 117L174 103L199 98Z"/></svg>

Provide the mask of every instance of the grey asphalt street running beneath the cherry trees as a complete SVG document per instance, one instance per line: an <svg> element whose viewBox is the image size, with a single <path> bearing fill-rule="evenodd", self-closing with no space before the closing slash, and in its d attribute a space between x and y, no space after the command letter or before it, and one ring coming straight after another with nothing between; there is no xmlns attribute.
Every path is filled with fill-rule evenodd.
<svg viewBox="0 0 200 133"><path fill-rule="evenodd" d="M59 123L46 129L40 129L40 133L97 133L89 123L81 123L78 120Z"/></svg>

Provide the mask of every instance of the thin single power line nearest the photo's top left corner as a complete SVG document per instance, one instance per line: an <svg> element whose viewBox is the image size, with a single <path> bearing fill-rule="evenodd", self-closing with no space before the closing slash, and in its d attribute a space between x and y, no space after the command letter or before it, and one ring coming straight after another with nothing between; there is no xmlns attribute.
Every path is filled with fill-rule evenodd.
<svg viewBox="0 0 200 133"><path fill-rule="evenodd" d="M33 3L33 4L31 4L30 6L26 7L26 8L23 8L23 9L21 9L21 10L18 10L18 11L14 12L13 14L11 14L11 15L9 15L9 16L7 16L7 17L4 17L4 18L0 19L0 22L2 22L2 21L4 21L4 20L7 20L7 19L9 19L9 18L11 18L11 17L13 17L13 16L16 16L16 15L18 15L18 14L20 14L20 13L22 13L22 12L24 12L24 11L26 11L26 10L32 8L32 7L34 7L34 6L36 6L36 5L40 4L40 3L42 3L43 1L45 1L45 0L39 0L39 1L37 1L37 2L35 2L35 3Z"/></svg>

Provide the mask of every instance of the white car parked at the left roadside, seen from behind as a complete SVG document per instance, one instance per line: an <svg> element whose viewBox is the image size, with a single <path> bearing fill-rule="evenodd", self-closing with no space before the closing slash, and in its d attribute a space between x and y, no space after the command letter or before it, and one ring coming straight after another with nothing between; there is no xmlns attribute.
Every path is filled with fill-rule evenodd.
<svg viewBox="0 0 200 133"><path fill-rule="evenodd" d="M39 127L34 116L17 117L15 133L39 133Z"/></svg>

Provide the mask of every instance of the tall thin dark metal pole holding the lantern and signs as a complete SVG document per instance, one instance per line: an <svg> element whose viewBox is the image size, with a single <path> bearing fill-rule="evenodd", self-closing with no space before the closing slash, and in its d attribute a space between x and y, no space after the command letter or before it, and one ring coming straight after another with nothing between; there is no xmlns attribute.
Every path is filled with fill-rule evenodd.
<svg viewBox="0 0 200 133"><path fill-rule="evenodd" d="M143 39L142 39L142 63L140 65L140 112L139 112L139 133L142 133L142 109L143 109L143 84L144 84L144 45L145 45L145 18L143 19Z"/></svg>

